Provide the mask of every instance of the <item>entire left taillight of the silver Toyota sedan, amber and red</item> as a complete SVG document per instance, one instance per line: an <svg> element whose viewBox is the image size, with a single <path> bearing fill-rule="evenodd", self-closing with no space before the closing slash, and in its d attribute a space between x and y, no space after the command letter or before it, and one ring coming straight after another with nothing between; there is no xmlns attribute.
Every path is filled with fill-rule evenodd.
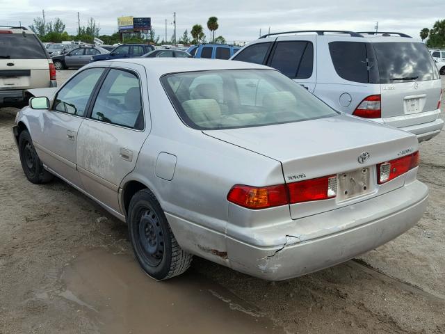
<svg viewBox="0 0 445 334"><path fill-rule="evenodd" d="M248 209L266 209L313 200L327 200L337 196L337 176L279 184L277 186L245 186L236 184L227 194L229 202Z"/></svg>

